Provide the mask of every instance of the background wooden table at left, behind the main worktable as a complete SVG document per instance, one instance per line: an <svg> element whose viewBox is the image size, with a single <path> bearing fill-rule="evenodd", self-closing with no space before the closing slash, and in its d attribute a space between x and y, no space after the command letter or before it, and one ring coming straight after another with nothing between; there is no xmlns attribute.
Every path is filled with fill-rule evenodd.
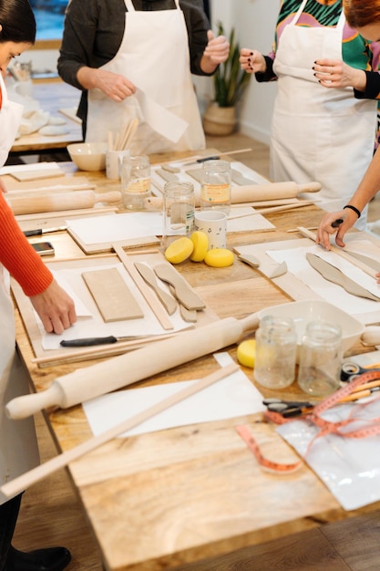
<svg viewBox="0 0 380 571"><path fill-rule="evenodd" d="M40 108L49 111L52 116L66 120L63 126L67 129L64 135L41 135L38 131L24 135L15 140L10 156L53 153L66 149L73 142L82 141L82 127L77 120L70 119L59 112L59 109L77 109L80 91L64 83L60 79L54 81L35 80L33 82L33 99L40 104Z"/></svg>

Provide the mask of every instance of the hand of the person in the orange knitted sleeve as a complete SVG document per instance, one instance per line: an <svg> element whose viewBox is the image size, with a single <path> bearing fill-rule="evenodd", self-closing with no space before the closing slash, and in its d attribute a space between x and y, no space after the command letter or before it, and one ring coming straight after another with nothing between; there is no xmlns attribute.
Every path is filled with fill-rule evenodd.
<svg viewBox="0 0 380 571"><path fill-rule="evenodd" d="M47 333L61 334L77 321L74 301L56 280L42 294L31 296L30 301Z"/></svg>

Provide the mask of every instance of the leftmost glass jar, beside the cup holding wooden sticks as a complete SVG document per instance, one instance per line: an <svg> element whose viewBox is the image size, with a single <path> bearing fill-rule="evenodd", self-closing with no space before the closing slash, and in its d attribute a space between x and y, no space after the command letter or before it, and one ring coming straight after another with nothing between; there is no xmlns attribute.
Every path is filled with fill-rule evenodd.
<svg viewBox="0 0 380 571"><path fill-rule="evenodd" d="M144 201L150 196L149 157L123 157L120 174L124 207L128 210L144 210Z"/></svg>

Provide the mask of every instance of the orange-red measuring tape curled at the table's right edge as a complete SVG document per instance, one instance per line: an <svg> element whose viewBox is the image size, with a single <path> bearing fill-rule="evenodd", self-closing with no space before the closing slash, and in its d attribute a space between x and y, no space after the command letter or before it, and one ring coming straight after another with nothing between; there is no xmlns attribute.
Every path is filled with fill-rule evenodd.
<svg viewBox="0 0 380 571"><path fill-rule="evenodd" d="M355 403L353 409L345 420L332 422L321 417L322 413L324 413L326 410L331 409L336 404L340 404L344 397L347 397L352 392L354 392L354 389L360 387L364 383L375 379L380 379L380 371L369 371L367 373L363 373L362 375L356 377L356 379L352 380L349 384L345 385L342 389L336 390L332 395L322 400L322 402L316 405L310 413L303 415L304 420L312 422L320 429L320 431L314 436L313 440L309 442L305 455L307 452L309 452L311 446L313 445L313 441L315 441L317 438L320 438L321 436L325 436L326 434L337 434L339 436L343 436L344 438L367 438L368 436L375 436L376 434L380 434L380 417L370 420L354 418L354 413L357 412L358 408L365 408L365 406L371 402L374 402L374 400L379 399L379 396L376 396L373 399L367 400L363 403ZM267 420L271 420L275 424L283 424L284 422L293 421L293 419L285 419L278 412L273 412L271 410L264 412L264 417ZM360 421L362 423L365 422L367 425L353 431L343 430L344 427L349 426L355 421ZM259 444L255 441L251 431L247 426L238 426L236 431L241 436L241 439L247 444L248 448L253 453L262 468L267 469L271 472L289 473L294 472L294 470L297 470L300 466L302 466L303 461L284 464L281 462L273 462L265 458L260 451Z"/></svg>

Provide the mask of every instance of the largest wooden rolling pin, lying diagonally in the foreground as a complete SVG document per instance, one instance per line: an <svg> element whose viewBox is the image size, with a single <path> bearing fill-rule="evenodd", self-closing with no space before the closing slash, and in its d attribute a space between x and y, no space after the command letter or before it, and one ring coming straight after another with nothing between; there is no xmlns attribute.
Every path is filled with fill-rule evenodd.
<svg viewBox="0 0 380 571"><path fill-rule="evenodd" d="M226 317L175 337L156 341L63 375L53 380L50 387L42 392L16 397L6 404L6 414L11 419L25 419L48 407L67 409L233 345L246 331L257 327L259 315L253 313L239 320Z"/></svg>

